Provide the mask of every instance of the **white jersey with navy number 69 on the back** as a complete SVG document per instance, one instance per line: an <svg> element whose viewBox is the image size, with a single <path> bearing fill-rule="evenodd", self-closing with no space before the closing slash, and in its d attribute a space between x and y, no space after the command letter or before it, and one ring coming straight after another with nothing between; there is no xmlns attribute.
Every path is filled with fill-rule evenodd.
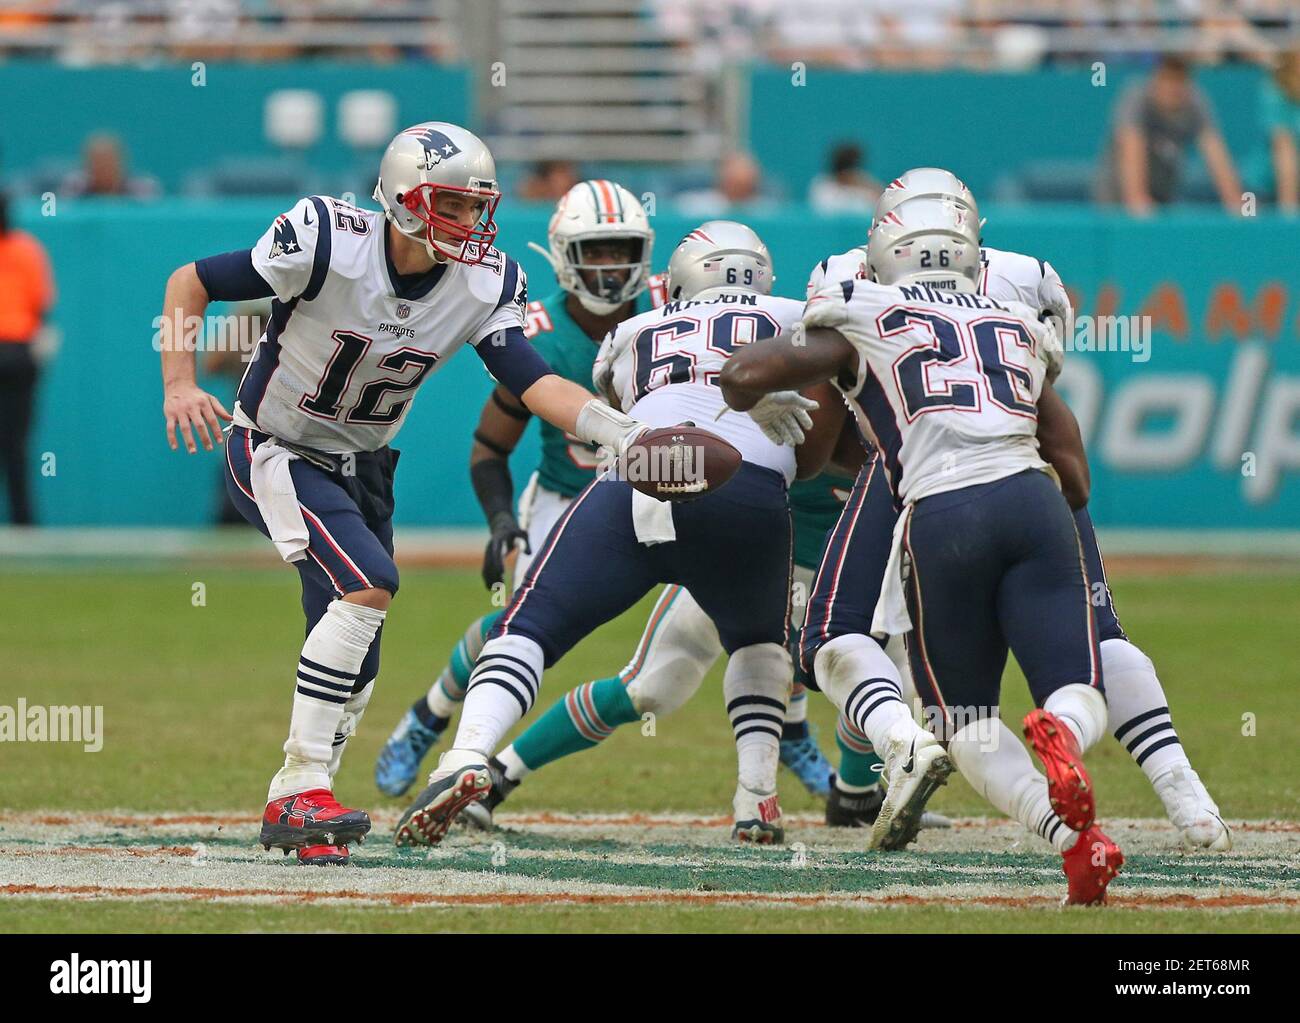
<svg viewBox="0 0 1300 1023"><path fill-rule="evenodd" d="M619 324L601 346L592 378L633 419L650 426L694 422L789 482L794 448L772 443L748 415L729 409L718 374L736 346L789 330L802 311L794 299L725 289L668 302Z"/></svg>

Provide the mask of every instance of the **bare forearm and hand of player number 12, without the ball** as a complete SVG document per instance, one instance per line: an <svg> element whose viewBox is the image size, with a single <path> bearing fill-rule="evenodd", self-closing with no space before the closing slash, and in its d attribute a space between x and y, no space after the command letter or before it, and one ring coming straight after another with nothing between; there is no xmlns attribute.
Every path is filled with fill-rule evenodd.
<svg viewBox="0 0 1300 1023"><path fill-rule="evenodd" d="M221 420L230 413L213 395L203 390L195 380L192 339L186 337L186 324L202 317L208 308L208 292L192 263L179 266L166 282L162 298L162 318L159 335L162 347L162 415L166 417L166 439L177 448L177 430L191 455L199 447L212 451L213 438L221 443Z"/></svg>

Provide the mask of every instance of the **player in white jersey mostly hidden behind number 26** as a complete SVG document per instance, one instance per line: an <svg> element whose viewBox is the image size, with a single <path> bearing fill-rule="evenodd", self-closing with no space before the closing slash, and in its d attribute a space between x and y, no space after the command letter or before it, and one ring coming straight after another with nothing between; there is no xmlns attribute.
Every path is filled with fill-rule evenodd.
<svg viewBox="0 0 1300 1023"><path fill-rule="evenodd" d="M927 196L961 204L983 225L975 196L954 174L939 168L916 168L894 178L880 196L876 220L888 216L906 199ZM863 246L823 260L812 269L809 295L828 282L867 279L866 259ZM1045 260L984 246L980 248L978 290L993 299L1023 302L1036 308L1040 317L1053 318L1062 337L1071 330L1074 311L1069 295L1056 269ZM1087 507L1088 460L1083 438L1069 407L1050 387L1039 400L1037 435L1044 458L1058 472L1083 545L1089 590L1097 607L1112 734L1141 767L1186 845L1216 851L1230 849L1231 833L1174 731L1169 701L1156 669L1119 624ZM805 669L811 667L824 642L842 634L867 632L893 525L888 499L883 493L875 493L887 489L884 473L874 473L872 469L874 465L868 464L859 477L861 486L836 526L823 559L823 572L810 597L807 617L811 628L803 632L801 647ZM870 487L866 485L868 480ZM900 649L901 643L894 637L888 650L906 681L906 656L897 656ZM857 747L866 744L864 737L854 734L849 721L841 720L840 732L849 733L850 742ZM852 753L848 746L844 749L845 759L870 759L870 754ZM841 776L844 773L841 770ZM837 783L832 801L848 803L862 799L875 810L883 798L871 793L874 798L868 796L863 799L862 793L842 792L844 788L842 783Z"/></svg>

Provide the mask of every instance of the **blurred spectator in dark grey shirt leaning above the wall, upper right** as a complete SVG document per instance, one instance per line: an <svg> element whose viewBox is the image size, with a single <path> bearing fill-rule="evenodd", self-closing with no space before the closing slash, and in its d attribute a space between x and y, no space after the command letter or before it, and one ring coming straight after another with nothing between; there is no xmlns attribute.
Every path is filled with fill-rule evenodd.
<svg viewBox="0 0 1300 1023"><path fill-rule="evenodd" d="M1242 211L1242 182L1205 94L1182 57L1162 57L1150 77L1121 96L1102 156L1097 199L1148 216L1178 198L1195 143L1228 213Z"/></svg>

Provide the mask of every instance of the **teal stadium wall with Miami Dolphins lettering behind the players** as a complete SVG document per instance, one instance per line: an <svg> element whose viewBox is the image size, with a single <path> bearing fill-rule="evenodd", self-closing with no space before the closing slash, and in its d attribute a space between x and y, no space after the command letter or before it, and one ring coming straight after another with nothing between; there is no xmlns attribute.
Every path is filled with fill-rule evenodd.
<svg viewBox="0 0 1300 1023"><path fill-rule="evenodd" d="M46 523L209 521L216 459L172 454L164 443L153 320L174 266L251 244L286 201L68 203L44 218L35 204L21 207L21 222L48 246L57 268L55 320L64 334L34 438L35 452L56 456L56 474L36 489ZM1135 361L1132 351L1075 351L1066 360L1062 387L1088 441L1098 523L1300 525L1294 221L1171 213L1134 222L1072 208L987 213L985 240L1052 260L1080 312L1153 318L1147 361ZM554 287L550 270L525 247L545 237L547 216L520 204L502 209L499 242L524 265L533 296ZM751 222L774 252L776 290L786 295L802 295L812 264L858 243L867 226L798 209ZM675 239L694 225L660 212L654 226L660 268ZM218 390L228 393L229 385ZM421 389L398 439L400 523L480 521L467 459L489 390L468 351ZM516 455L517 481L534 459L536 428Z"/></svg>

